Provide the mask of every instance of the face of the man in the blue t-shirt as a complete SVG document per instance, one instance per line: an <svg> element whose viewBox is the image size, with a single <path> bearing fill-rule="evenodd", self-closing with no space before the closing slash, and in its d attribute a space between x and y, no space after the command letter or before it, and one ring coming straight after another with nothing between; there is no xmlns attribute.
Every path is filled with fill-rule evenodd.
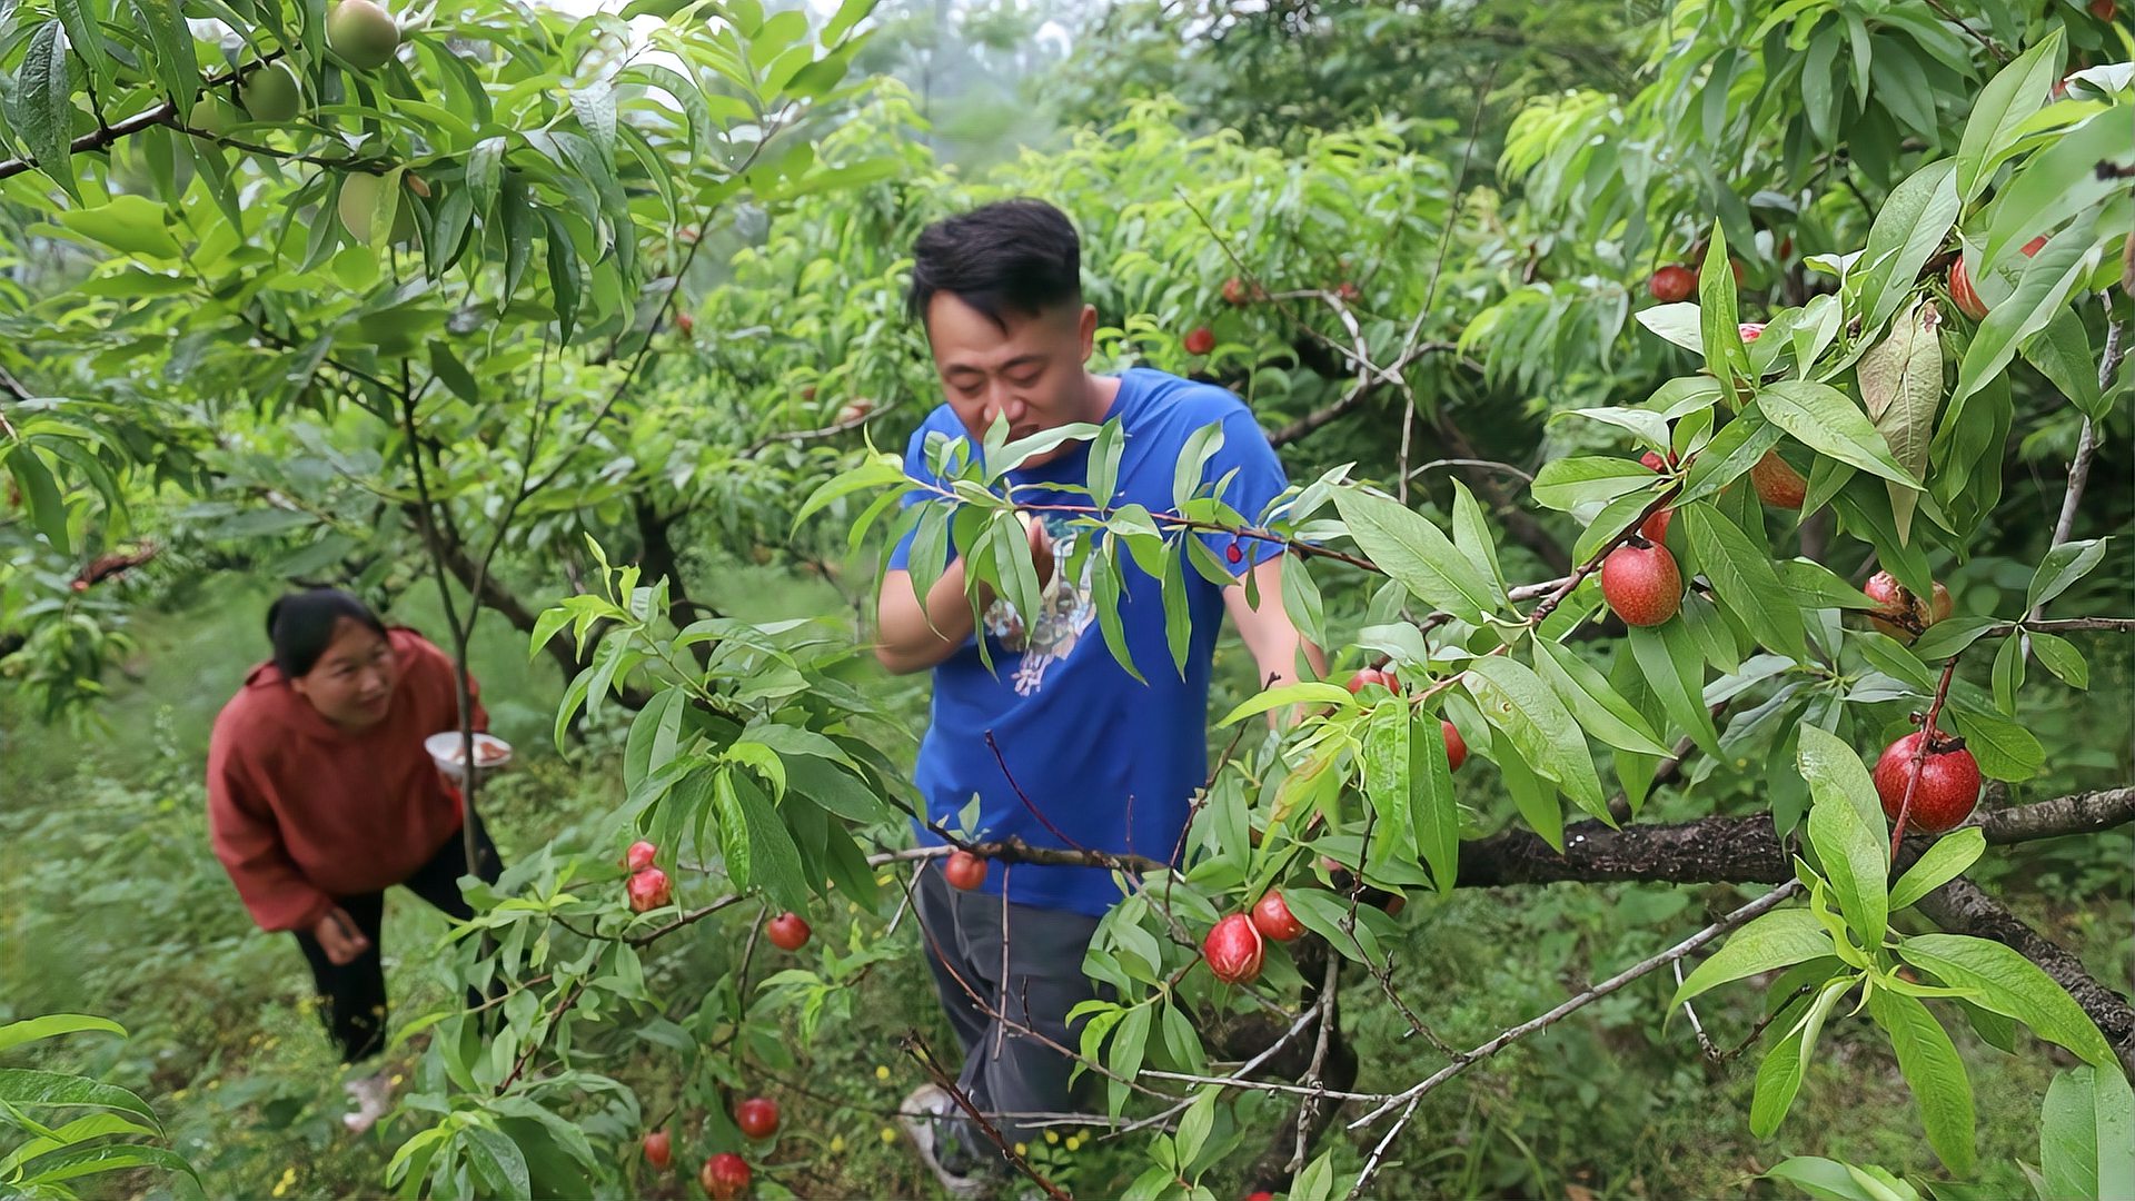
<svg viewBox="0 0 2135 1201"><path fill-rule="evenodd" d="M1029 438L1076 421L1097 421L1082 365L1097 333L1097 310L1061 306L1038 316L1003 312L1003 331L954 293L935 293L927 303L927 340L935 370L948 387L948 404L980 444L995 417L1008 421L1008 438ZM1063 442L1025 466L1057 459L1074 449Z"/></svg>

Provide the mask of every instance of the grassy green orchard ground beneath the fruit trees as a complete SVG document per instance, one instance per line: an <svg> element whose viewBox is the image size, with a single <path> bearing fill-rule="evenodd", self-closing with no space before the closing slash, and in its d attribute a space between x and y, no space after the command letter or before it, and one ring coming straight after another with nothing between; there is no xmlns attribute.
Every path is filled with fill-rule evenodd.
<svg viewBox="0 0 2135 1201"><path fill-rule="evenodd" d="M843 596L820 575L762 568L749 562L705 564L719 581L711 600L745 618L845 611ZM852 564L850 579L865 579ZM171 1130L171 1145L201 1171L211 1197L359 1197L376 1195L393 1148L412 1133L408 1120L386 1122L367 1137L348 1137L339 1113L337 1064L316 1019L303 1007L303 972L284 936L256 932L207 848L201 759L216 709L256 656L258 613L273 581L224 575L213 583L162 596L141 624L141 654L128 665L137 682L115 680L98 709L102 729L38 727L0 712L6 739L11 804L0 814L0 855L9 904L0 913L0 1019L34 1013L92 1011L124 1024L132 1039L77 1039L47 1051L70 1069L105 1075L147 1098ZM433 622L433 598L412 590L397 620ZM2124 645L2094 639L2092 697L2131 695ZM1223 709L1249 688L1251 660L1225 635L1215 705ZM493 729L517 748L512 769L487 793L487 816L515 861L544 840L585 846L589 831L621 799L608 767L619 759L621 724L585 729L570 757L557 757L549 729L559 695L547 660L527 662L525 641L489 622L476 641L474 673L483 682ZM2107 746L2122 722L2124 701L2052 709L2067 727L2062 746ZM922 690L903 695L912 729L924 716ZM2116 718L2118 714L2118 718ZM613 720L613 718L611 718ZM2097 729L2090 729L2097 727ZM2082 752L2079 752L2082 754ZM903 748L901 761L910 761ZM2062 763L2071 776L2090 763ZM1484 778L1490 763L1471 763L1473 797L1494 795ZM2054 795L2054 778L2030 795ZM1503 801L1501 801L1503 804ZM1663 795L1652 821L1710 812L1710 799L1682 806ZM1682 806L1670 812L1670 806ZM1501 818L1503 814L1486 814ZM2124 876L2135 838L2107 831L2011 848L1981 870L1988 887L2009 889L2011 906L2107 981L2135 970L2124 927L2099 906L2101 887ZM692 880L679 880L685 889ZM1420 891L1403 923L1424 936L1430 970L1426 1019L1452 1045L1473 1045L1539 1013L1567 992L1618 970L1665 945L1699 915L1736 904L1725 887L1556 885L1546 889ZM875 919L813 913L816 938L856 947L882 938ZM1913 919L1917 921L1917 919ZM694 1009L705 981L717 979L737 947L715 923L700 927L681 955L651 964L653 992L673 1011ZM1458 936L1430 938L1430 930ZM384 934L389 985L399 1036L455 994L427 968L444 919L395 895ZM801 1197L929 1197L933 1184L903 1143L888 1137L897 1101L922 1077L899 1051L918 1030L948 1045L948 1030L905 923L892 942L897 960L865 981L854 1013L837 1036L818 1039L801 1062L766 1064L756 1092L771 1096L784 1124L756 1158L758 1192L779 1188ZM1505 949L1516 949L1505 953ZM754 974L760 979L764 953ZM1678 1011L1663 1030L1661 1007L1672 979L1648 977L1569 1021L1473 1069L1462 1088L1433 1094L1405 1139L1403 1163L1371 1188L1375 1197L1717 1197L1778 1195L1749 1177L1789 1154L1825 1154L1892 1169L1934 1171L1913 1101L1887 1049L1866 1026L1838 1024L1828 1054L1810 1066L1800 1111L1778 1137L1755 1141L1749 1107L1755 1049L1725 1064L1699 1054ZM1757 1017L1757 989L1699 998L1697 1017L1723 1049L1731 1049ZM1362 1060L1358 1088L1396 1088L1413 1079L1413 1043L1383 994L1354 987L1343 998L1345 1026ZM651 1024L653 1013L617 1015ZM1954 1030L1979 1098L1979 1197L2026 1190L2018 1158L2037 1156L2037 1105L2058 1056L2005 1056L1968 1030ZM389 1060L412 1066L425 1041L414 1032ZM798 1043L796 1039L792 1043ZM2043 1047L2030 1043L2030 1049ZM673 1107L662 1079L679 1079L675 1051L640 1039L628 1062L602 1071L638 1088L645 1111ZM1283 1122L1272 1105L1245 1105L1270 1130ZM1866 1122L1862 1116L1877 1116ZM702 1158L690 1116L668 1120L675 1167L651 1173L634 1160L643 1197L694 1197L690 1182ZM634 1156L628 1130L604 1130L617 1156ZM1375 1135L1373 1135L1375 1137ZM1337 1167L1356 1171L1373 1137L1345 1141L1337 1128ZM1074 1150L1070 1150L1070 1145ZM1097 1139L1061 1139L1031 1148L1053 1180L1078 1197L1117 1195L1144 1167L1138 1148ZM147 1175L107 1177L98 1197L164 1195Z"/></svg>

